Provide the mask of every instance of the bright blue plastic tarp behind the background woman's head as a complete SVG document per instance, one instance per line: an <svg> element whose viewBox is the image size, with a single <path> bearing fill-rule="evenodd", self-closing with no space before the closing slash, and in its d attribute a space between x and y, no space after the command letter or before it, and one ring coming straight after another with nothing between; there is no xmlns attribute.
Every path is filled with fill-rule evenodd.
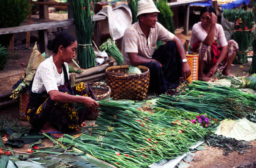
<svg viewBox="0 0 256 168"><path fill-rule="evenodd" d="M249 3L250 3L250 0L236 0L234 2L222 4L220 6L221 6L222 10L224 10L224 9L231 10L231 9L239 7L240 5L243 5L243 4L248 5ZM209 0L207 2L202 2L202 3L193 3L193 4L190 4L190 6L212 6L212 1Z"/></svg>

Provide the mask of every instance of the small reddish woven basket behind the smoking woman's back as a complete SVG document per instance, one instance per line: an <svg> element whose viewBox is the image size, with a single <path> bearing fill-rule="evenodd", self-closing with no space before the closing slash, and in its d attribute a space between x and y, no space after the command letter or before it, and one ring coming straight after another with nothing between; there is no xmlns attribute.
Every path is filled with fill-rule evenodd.
<svg viewBox="0 0 256 168"><path fill-rule="evenodd" d="M26 110L29 104L29 92L22 92L19 95L19 115L21 120L27 120Z"/></svg>

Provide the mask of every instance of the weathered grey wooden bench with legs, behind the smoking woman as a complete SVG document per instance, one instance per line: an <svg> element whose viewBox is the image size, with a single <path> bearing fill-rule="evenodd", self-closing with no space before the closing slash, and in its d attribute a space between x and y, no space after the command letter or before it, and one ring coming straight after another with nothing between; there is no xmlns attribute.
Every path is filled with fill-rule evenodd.
<svg viewBox="0 0 256 168"><path fill-rule="evenodd" d="M106 16L103 15L94 15L93 21L99 21L106 19ZM7 27L7 28L1 28L0 29L0 35L1 34L13 34L13 33L19 33L19 32L27 32L27 31L38 31L39 35L39 50L41 53L46 52L46 55L48 54L48 49L46 48L48 43L48 37L47 37L47 29L50 28L57 28L57 27L63 27L63 26L69 26L74 25L74 19L66 19L61 21L54 21L54 22L47 22L47 23L38 23L38 24L29 24L29 25L22 25L22 26L15 26L15 27ZM100 34L96 31L97 29L97 22L95 24L94 29L94 38L100 39Z"/></svg>

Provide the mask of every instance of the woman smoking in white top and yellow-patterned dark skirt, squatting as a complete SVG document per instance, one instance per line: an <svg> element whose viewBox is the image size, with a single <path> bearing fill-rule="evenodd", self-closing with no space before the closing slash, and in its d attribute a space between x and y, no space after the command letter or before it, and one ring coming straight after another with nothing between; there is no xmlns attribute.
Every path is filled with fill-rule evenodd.
<svg viewBox="0 0 256 168"><path fill-rule="evenodd" d="M76 55L77 41L67 33L60 33L47 48L53 55L39 65L31 82L27 120L40 130L63 137L61 130L75 130L92 113L98 114L97 98L84 83L71 87L68 80L68 63ZM80 96L75 96L80 95ZM73 103L84 103L88 108L75 111Z"/></svg>

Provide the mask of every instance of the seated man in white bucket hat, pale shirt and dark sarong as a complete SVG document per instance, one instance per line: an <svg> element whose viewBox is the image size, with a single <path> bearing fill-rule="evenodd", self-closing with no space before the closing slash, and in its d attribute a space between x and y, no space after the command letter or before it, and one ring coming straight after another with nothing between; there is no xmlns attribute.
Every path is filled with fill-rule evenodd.
<svg viewBox="0 0 256 168"><path fill-rule="evenodd" d="M150 69L150 89L165 92L179 86L191 70L181 41L157 22L159 10L152 0L138 1L138 22L129 26L123 36L125 64ZM156 42L167 42L156 49Z"/></svg>

